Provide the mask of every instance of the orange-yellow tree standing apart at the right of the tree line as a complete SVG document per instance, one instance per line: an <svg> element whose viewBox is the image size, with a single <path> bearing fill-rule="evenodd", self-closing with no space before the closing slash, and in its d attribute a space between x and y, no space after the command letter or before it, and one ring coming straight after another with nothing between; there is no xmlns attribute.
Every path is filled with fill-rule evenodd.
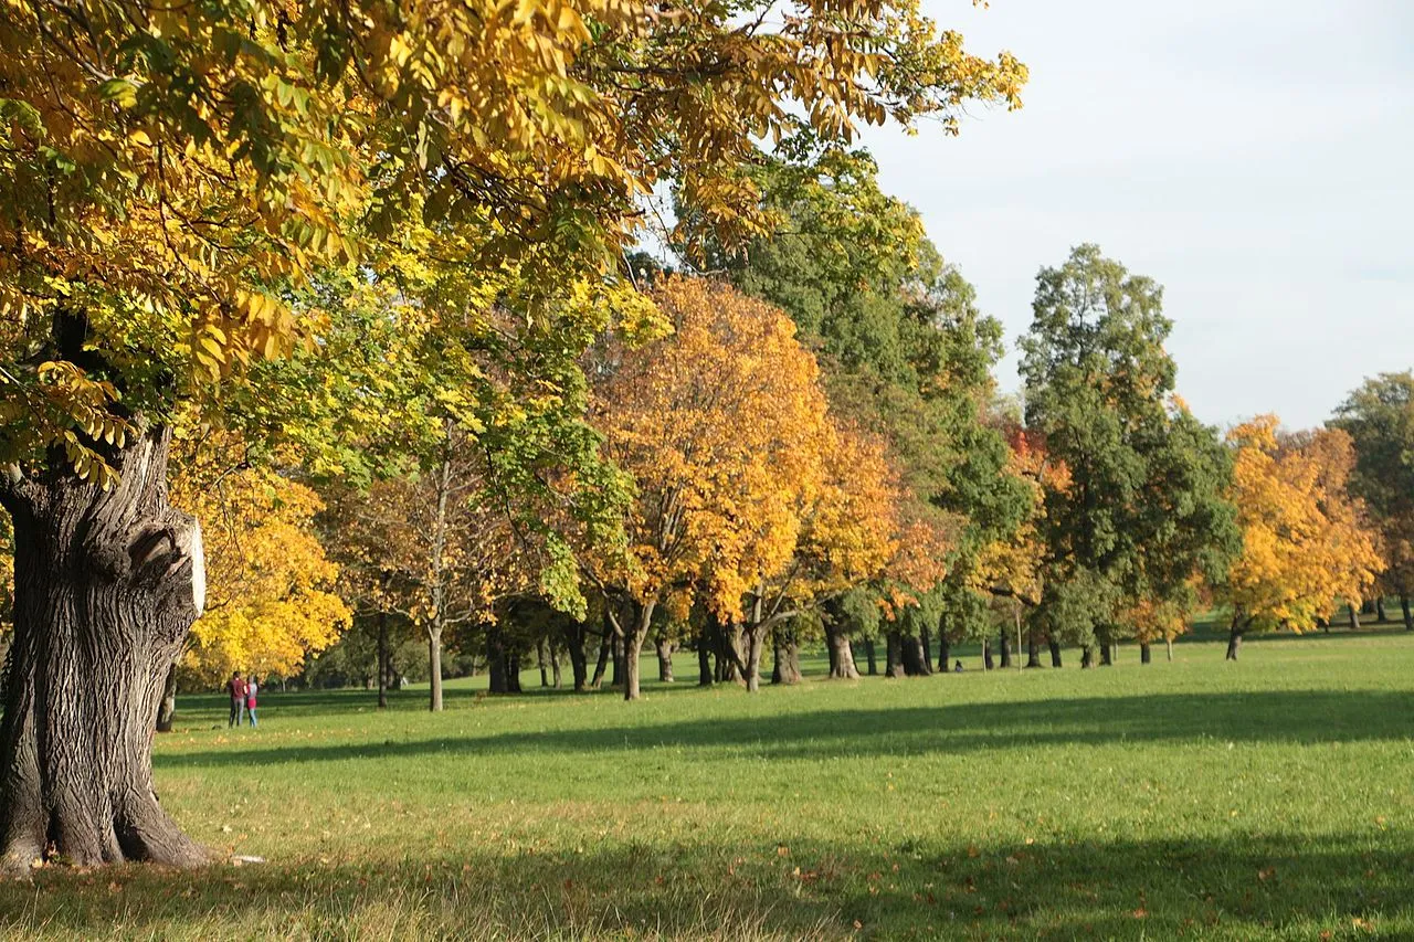
<svg viewBox="0 0 1414 942"><path fill-rule="evenodd" d="M1250 631L1305 631L1329 618L1336 600L1359 600L1383 569L1363 505L1346 492L1355 464L1339 430L1278 434L1275 416L1234 427L1232 501L1241 553L1222 598L1232 607L1227 658Z"/></svg>

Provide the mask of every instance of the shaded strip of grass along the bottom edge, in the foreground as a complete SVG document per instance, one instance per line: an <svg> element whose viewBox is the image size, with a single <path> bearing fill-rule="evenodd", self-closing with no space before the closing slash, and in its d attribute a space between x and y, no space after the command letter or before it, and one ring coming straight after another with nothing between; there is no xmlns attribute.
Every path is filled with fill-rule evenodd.
<svg viewBox="0 0 1414 942"><path fill-rule="evenodd" d="M1414 931L1414 835L994 844L636 843L0 884L21 936L1335 938ZM1355 926L1356 931L1352 931ZM1331 938L1324 936L1321 938Z"/></svg>

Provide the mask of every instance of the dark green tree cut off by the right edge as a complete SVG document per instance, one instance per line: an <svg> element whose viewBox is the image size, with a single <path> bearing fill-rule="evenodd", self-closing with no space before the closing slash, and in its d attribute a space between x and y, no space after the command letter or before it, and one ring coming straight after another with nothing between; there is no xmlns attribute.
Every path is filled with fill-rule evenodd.
<svg viewBox="0 0 1414 942"><path fill-rule="evenodd" d="M1350 494L1365 501L1380 530L1384 573L1376 588L1398 595L1404 628L1414 631L1414 373L1365 380L1331 426L1355 444Z"/></svg>

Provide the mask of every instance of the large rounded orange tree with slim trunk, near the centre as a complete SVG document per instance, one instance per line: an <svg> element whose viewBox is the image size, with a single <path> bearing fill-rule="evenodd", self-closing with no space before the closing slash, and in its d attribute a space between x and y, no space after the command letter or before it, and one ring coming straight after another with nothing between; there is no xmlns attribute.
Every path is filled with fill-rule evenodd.
<svg viewBox="0 0 1414 942"><path fill-rule="evenodd" d="M803 511L827 487L824 395L790 320L706 280L669 277L656 298L672 337L622 352L592 406L605 454L638 484L625 552L592 563L628 604L618 631L631 700L665 598L699 591L741 621L745 595L786 571Z"/></svg>

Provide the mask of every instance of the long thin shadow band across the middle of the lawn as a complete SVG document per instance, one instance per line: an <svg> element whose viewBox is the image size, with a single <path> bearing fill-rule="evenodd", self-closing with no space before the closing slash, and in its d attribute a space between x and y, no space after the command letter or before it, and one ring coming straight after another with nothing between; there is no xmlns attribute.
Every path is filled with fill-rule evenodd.
<svg viewBox="0 0 1414 942"><path fill-rule="evenodd" d="M918 755L1027 745L1216 738L1236 743L1352 743L1410 735L1407 693L1281 690L960 703L778 713L570 730L536 730L266 748L158 752L158 768L385 760L420 754L732 750L768 758Z"/></svg>

